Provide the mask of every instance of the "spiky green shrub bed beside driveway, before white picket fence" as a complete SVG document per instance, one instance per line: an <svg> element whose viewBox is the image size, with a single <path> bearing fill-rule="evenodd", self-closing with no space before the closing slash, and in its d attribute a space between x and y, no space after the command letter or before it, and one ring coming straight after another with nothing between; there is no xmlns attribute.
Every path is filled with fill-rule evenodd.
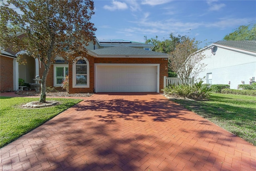
<svg viewBox="0 0 256 171"><path fill-rule="evenodd" d="M168 95L174 97L192 98L192 99L205 99L209 97L211 91L210 87L202 86L202 82L196 82L194 85L169 85L164 88Z"/></svg>

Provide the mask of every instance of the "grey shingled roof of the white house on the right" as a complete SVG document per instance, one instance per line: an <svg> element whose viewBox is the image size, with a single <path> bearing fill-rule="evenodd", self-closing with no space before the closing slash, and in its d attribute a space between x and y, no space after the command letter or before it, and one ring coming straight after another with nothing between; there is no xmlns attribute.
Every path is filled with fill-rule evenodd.
<svg viewBox="0 0 256 171"><path fill-rule="evenodd" d="M252 41L250 41L250 40L241 40L241 41L231 41L231 40L224 41L224 40L222 40L222 41L218 41L214 44L256 53L256 41L255 40L252 40Z"/></svg>

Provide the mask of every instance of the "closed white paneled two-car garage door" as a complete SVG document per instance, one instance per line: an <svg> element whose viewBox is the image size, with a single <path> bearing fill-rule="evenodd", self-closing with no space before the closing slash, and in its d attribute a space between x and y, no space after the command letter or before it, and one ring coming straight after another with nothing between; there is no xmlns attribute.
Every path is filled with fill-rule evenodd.
<svg viewBox="0 0 256 171"><path fill-rule="evenodd" d="M98 92L156 92L157 66L98 66Z"/></svg>

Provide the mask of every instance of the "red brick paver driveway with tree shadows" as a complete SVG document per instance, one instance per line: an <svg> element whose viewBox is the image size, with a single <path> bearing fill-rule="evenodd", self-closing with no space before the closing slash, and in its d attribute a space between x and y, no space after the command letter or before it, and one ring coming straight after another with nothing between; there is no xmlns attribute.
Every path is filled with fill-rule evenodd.
<svg viewBox="0 0 256 171"><path fill-rule="evenodd" d="M2 170L255 170L256 148L157 93L94 94L1 149Z"/></svg>

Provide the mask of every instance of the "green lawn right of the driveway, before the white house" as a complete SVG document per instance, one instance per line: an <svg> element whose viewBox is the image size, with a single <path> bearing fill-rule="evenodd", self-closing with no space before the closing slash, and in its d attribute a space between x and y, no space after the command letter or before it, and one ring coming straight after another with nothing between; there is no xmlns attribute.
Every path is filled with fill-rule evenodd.
<svg viewBox="0 0 256 171"><path fill-rule="evenodd" d="M174 101L256 145L255 96L213 93L209 101Z"/></svg>

